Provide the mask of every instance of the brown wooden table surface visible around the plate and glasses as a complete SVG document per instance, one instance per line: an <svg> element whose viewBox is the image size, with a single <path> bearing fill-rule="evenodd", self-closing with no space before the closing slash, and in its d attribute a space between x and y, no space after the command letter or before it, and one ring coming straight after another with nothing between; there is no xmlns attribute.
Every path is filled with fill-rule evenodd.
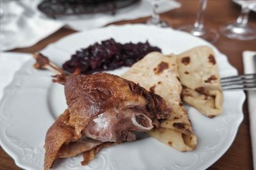
<svg viewBox="0 0 256 170"><path fill-rule="evenodd" d="M198 10L198 1L194 0L180 0L182 7L173 11L163 13L161 17L168 23L173 25L173 28L177 28L184 24L193 24L195 21L196 11ZM205 26L213 29L227 22L236 20L240 13L240 7L232 1L222 0L214 1L210 0L207 4L207 10L205 11ZM148 18L140 18L137 20L116 22L115 24L126 23L145 23ZM250 13L250 24L256 26L256 13ZM49 43L57 41L58 39L72 34L76 31L62 28L55 32L48 38L43 39L39 43L29 48L15 49L14 52L36 52L41 50ZM228 39L224 36L220 36L220 39L214 44L222 53L227 55L229 62L235 66L239 73L243 73L242 52L244 50L256 50L256 40L251 41L239 41L234 39ZM227 152L215 162L209 169L253 169L252 164L252 147L250 142L250 129L248 120L248 107L247 102L244 103L244 120L239 127L236 139L230 146ZM2 148L0 148L0 169L20 169L17 167L13 159L7 155Z"/></svg>

